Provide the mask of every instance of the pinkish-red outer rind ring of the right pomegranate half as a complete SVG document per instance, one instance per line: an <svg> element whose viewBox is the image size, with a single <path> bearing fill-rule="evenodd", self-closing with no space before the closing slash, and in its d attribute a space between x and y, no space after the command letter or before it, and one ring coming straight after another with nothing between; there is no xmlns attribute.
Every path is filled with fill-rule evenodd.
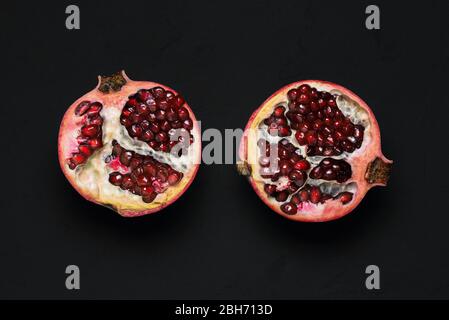
<svg viewBox="0 0 449 320"><path fill-rule="evenodd" d="M367 114L370 120L369 130L365 131L365 138L362 147L352 153L350 157L350 164L352 167L353 175L347 183L356 182L357 190L353 196L353 200L345 205L342 205L338 200L328 200L324 204L313 204L310 202L303 203L302 207L298 209L298 213L295 215L287 215L280 209L280 203L274 198L268 197L265 193L263 186L264 181L257 178L260 165L257 161L257 152L249 152L250 150L257 150L257 136L251 134L257 131L259 124L273 112L275 106L286 101L287 92L291 89L296 89L302 84L308 84L311 87L317 88L320 91L327 91L330 93L338 93L347 96L353 102L355 102L360 108L362 108ZM293 135L292 135L293 136ZM380 158L383 162L391 164L392 161L387 159L381 150L380 141L380 129L377 123L376 117L371 108L363 101L358 95L345 87L321 80L302 80L288 84L275 93L273 93L268 99L266 99L261 106L256 109L245 127L240 147L239 157L246 167L245 171L250 173L247 178L253 187L256 194L269 206L273 211L281 216L294 221L301 222L325 222L339 219L350 212L352 212L362 201L365 194L374 186L384 186L383 183L370 184L364 178L367 164L374 161L376 158Z"/></svg>

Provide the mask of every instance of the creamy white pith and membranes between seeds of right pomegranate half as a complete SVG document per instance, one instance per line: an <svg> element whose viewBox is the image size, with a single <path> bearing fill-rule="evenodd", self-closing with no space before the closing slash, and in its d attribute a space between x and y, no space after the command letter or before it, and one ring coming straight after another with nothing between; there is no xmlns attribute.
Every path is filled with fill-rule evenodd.
<svg viewBox="0 0 449 320"><path fill-rule="evenodd" d="M305 180L304 185L300 187L296 192L290 194L286 201L278 202L274 197L268 196L265 194L265 201L268 201L270 203L271 207L277 207L280 208L280 206L284 203L290 202L292 196L294 194L297 194L299 191L302 190L302 188L306 185L310 186L318 186L321 190L321 192L324 194L329 194L332 197L337 196L341 192L351 192L353 193L353 199L346 204L342 204L338 199L328 199L324 203L317 203L314 204L312 202L303 202L301 204L301 207L298 206L298 212L296 215L305 214L305 215L321 215L323 214L324 209L332 209L334 206L345 206L350 205L352 201L357 196L357 192L359 191L359 186L357 183L357 179L354 176L354 171L359 172L360 170L354 170L352 160L361 157L364 155L364 153L367 151L367 148L370 146L370 143L372 142L372 123L370 122L370 117L368 112L360 106L356 101L352 100L348 96L344 95L342 92L336 89L329 90L329 87L322 86L317 82L304 82L308 83L311 87L316 88L318 91L327 91L334 95L336 97L337 107L342 111L345 117L349 118L349 120L354 125L362 125L364 130L363 135L363 142L360 148L355 149L352 153L348 153L343 151L342 154L338 156L307 156L306 155L306 146L300 146L297 140L294 137L294 134L296 130L292 129L292 134L287 137L278 137L278 136L272 136L268 133L268 127L264 124L264 119L269 117L274 109L277 106L284 106L286 111L288 111L288 98L287 98L287 91L293 88L297 88L298 86L289 86L285 89L285 94L279 94L275 95L272 98L267 101L265 106L260 110L255 118L253 119L253 124L251 129L254 129L254 136L247 139L248 146L247 146L247 162L251 166L251 172L252 172L252 179L256 183L257 187L260 188L260 193L265 194L263 190L264 184L274 184L277 186L278 190L282 190L287 182L289 181L287 177L280 177L278 181L271 181L270 178L262 178L260 175L260 164L258 161L258 158L262 155L261 151L259 150L259 147L257 146L257 141L259 139L265 139L269 143L277 144L282 139L287 139L290 143L292 143L298 150L296 151L299 155L302 155L309 163L310 163L310 169L307 170L307 176L308 178ZM290 123L290 120L288 120L288 123ZM333 159L342 159L346 161L348 164L351 165L351 168L353 169L353 175L350 179L345 181L344 183L338 183L336 181L327 181L322 179L311 179L309 177L310 171L316 167L321 160L324 158L333 158ZM365 192L365 190L364 190ZM280 211L280 210L279 210Z"/></svg>

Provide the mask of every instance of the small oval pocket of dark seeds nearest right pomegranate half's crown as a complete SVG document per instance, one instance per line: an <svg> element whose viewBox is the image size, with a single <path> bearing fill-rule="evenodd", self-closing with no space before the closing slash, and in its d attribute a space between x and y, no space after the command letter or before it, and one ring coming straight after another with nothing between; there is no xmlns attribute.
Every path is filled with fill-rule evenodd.
<svg viewBox="0 0 449 320"><path fill-rule="evenodd" d="M344 160L324 158L310 171L310 178L323 180L336 180L339 183L347 181L352 176L349 163Z"/></svg>

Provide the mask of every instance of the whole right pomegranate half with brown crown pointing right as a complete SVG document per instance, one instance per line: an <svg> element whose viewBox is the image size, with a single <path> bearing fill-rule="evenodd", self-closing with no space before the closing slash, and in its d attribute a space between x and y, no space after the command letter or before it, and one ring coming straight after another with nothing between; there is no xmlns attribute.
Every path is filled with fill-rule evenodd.
<svg viewBox="0 0 449 320"><path fill-rule="evenodd" d="M241 174L280 215L305 222L338 219L369 189L385 186L392 161L368 105L326 81L289 84L251 116L240 143Z"/></svg>

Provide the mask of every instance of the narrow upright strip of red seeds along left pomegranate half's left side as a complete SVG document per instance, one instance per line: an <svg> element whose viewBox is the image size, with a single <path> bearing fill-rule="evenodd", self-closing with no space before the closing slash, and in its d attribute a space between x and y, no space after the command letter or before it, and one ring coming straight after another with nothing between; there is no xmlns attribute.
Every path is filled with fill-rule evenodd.
<svg viewBox="0 0 449 320"><path fill-rule="evenodd" d="M82 101L75 108L75 115L82 117L83 126L77 137L78 152L72 154L67 159L70 169L75 169L78 165L83 164L90 155L103 146L102 130L103 118L100 111L103 105L99 102Z"/></svg>

